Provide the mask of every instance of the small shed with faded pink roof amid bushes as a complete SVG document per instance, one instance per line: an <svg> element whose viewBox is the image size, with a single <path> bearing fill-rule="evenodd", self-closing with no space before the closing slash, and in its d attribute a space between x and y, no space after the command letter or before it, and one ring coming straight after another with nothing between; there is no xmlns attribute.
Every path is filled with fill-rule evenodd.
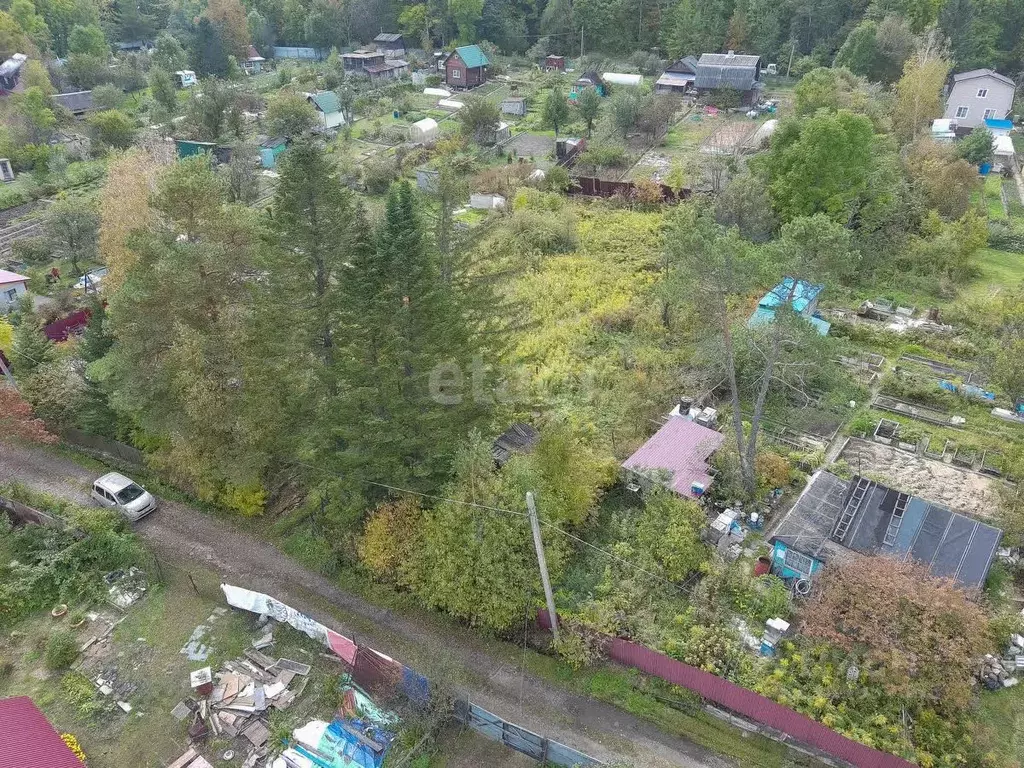
<svg viewBox="0 0 1024 768"><path fill-rule="evenodd" d="M673 414L623 462L623 468L644 487L657 482L680 496L696 499L712 483L708 460L724 441L721 432Z"/></svg>

